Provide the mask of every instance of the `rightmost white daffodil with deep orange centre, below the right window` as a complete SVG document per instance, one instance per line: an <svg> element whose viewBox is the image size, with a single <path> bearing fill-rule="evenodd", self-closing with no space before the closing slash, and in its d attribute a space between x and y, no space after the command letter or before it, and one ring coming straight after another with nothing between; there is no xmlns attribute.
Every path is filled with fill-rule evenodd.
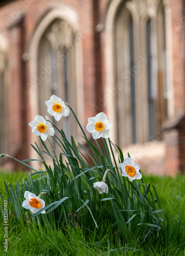
<svg viewBox="0 0 185 256"><path fill-rule="evenodd" d="M119 163L122 168L122 176L128 177L130 181L142 178L140 173L140 166L134 164L134 161L130 157L126 157L123 163Z"/></svg>

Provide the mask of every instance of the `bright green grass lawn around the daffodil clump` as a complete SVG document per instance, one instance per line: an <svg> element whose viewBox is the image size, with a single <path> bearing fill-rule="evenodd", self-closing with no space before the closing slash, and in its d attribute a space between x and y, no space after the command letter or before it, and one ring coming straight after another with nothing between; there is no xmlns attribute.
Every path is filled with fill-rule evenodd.
<svg viewBox="0 0 185 256"><path fill-rule="evenodd" d="M27 173L0 173L0 187L4 199L6 193L4 180L14 186L16 180L22 183L22 178L28 181ZM34 176L35 178L35 176ZM153 241L147 244L141 244L140 241L133 241L127 244L117 237L117 233L112 231L107 220L107 225L103 225L101 232L86 232L83 227L74 228L65 226L63 230L53 229L45 230L42 227L25 226L16 219L12 219L9 225L10 244L6 255L185 255L184 237L185 237L185 176L178 175L171 177L144 176L145 184L149 182L157 189L161 204L170 222L181 219L182 236L179 243L171 243L168 250L161 252L157 246L153 248ZM1 230L3 230L3 219L1 219ZM157 238L153 238L156 239ZM0 255L5 255L4 232L0 236ZM127 248L127 249L123 249ZM130 248L130 249L129 249Z"/></svg>

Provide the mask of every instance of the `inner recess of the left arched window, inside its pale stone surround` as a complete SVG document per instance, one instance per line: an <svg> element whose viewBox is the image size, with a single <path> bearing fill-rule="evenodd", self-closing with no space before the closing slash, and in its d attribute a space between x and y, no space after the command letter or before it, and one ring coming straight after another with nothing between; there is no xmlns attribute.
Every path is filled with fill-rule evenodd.
<svg viewBox="0 0 185 256"><path fill-rule="evenodd" d="M46 113L45 100L56 95L68 102L74 110L76 106L75 84L75 33L70 24L56 19L44 32L38 50L38 102L39 113ZM51 117L52 119L52 117ZM68 139L76 136L76 121L73 115L53 122L63 129Z"/></svg>

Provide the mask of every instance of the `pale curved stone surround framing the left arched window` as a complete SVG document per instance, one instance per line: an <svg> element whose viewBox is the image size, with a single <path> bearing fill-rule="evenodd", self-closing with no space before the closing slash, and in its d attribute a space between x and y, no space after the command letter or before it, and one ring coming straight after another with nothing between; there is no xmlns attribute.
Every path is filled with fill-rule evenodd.
<svg viewBox="0 0 185 256"><path fill-rule="evenodd" d="M79 20L78 15L74 9L66 5L57 5L48 11L40 20L37 25L33 37L31 39L29 47L29 60L30 60L30 82L28 83L29 89L29 102L31 117L34 118L38 114L39 105L37 102L38 94L38 49L40 41L47 29L55 22L55 20L63 20L69 24L73 30L73 33L77 35L77 40L74 43L74 61L75 61L75 79L76 79L76 97L77 97L77 109L75 110L77 116L79 116L80 121L83 123L83 81L82 81L82 49L81 49L81 37L79 33ZM70 104L70 102L68 102ZM46 112L47 112L47 106ZM72 113L71 113L72 115ZM79 130L77 131L79 132ZM35 136L32 135L32 141L36 140Z"/></svg>

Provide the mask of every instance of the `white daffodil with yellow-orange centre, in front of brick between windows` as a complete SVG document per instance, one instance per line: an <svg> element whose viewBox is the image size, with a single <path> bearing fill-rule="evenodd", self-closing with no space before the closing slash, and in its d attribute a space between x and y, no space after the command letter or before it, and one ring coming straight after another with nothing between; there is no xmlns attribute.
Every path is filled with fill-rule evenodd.
<svg viewBox="0 0 185 256"><path fill-rule="evenodd" d="M92 138L108 138L109 128L112 126L111 122L107 120L107 116L101 112L95 117L88 118L88 124L86 126L87 132L92 134Z"/></svg>

